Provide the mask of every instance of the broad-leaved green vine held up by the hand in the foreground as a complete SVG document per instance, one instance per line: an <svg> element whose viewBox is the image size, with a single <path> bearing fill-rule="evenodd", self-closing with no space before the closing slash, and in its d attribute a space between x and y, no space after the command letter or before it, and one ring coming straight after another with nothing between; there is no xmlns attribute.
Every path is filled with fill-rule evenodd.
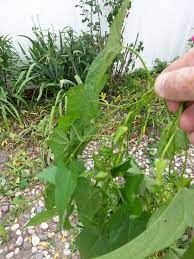
<svg viewBox="0 0 194 259"><path fill-rule="evenodd" d="M121 30L129 7L130 1L124 0L107 44L90 66L85 82L67 92L66 114L59 119L48 141L55 163L38 175L48 184L46 210L31 219L28 226L58 214L59 229L71 228L69 217L76 211L81 258L189 258L193 254L192 238L184 249L179 243L185 231L193 227L191 180L184 178L185 168L174 177L173 185L168 184L170 174L164 174L166 169L174 172L173 158L177 152L185 152L187 158L188 140L178 128L183 107L161 134L158 159L150 178L128 153L128 138L142 110L147 114L142 129L146 128L155 98L154 81L139 53L130 47L126 49L140 58L144 66L147 89L139 100L124 105L127 114L93 156L94 168L87 171L81 159L86 145L102 138L100 128L106 116L100 117L99 95L107 81L107 70L122 50ZM113 106L107 116L121 107Z"/></svg>

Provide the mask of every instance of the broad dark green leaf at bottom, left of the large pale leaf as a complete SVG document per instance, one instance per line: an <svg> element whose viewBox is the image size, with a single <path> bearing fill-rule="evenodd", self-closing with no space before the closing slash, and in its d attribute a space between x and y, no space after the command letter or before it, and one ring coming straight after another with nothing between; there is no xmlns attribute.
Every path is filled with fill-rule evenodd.
<svg viewBox="0 0 194 259"><path fill-rule="evenodd" d="M129 209L123 204L101 230L82 230L77 240L81 258L93 258L120 247L128 241L128 230Z"/></svg>

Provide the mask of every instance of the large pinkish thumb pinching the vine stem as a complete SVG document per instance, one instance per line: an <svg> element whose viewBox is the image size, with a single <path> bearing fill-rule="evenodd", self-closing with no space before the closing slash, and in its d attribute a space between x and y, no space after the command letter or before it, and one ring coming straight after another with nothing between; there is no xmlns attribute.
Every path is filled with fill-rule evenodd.
<svg viewBox="0 0 194 259"><path fill-rule="evenodd" d="M161 74L156 80L155 91L169 101L194 101L194 67Z"/></svg>

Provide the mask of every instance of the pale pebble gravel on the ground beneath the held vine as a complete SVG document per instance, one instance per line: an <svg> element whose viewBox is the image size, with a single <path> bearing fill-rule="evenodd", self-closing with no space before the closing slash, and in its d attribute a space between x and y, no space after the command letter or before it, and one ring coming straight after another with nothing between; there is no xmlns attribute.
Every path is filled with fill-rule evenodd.
<svg viewBox="0 0 194 259"><path fill-rule="evenodd" d="M155 140L148 138L145 138L140 146L136 145L135 140L132 140L129 145L130 155L135 158L139 166L149 175L153 172L154 156L157 153L154 145ZM83 159L88 170L91 170L94 166L92 153L97 153L98 147L99 143L93 141L84 151ZM0 152L0 163L1 155ZM7 159L6 161L8 161ZM181 172L183 163L184 155L176 156L175 166L177 172ZM186 177L192 177L194 179L194 147L190 147L189 150ZM71 233L66 230L55 233L59 223L58 216L53 217L49 222L43 222L39 226L23 229L30 218L34 217L37 212L40 213L45 209L44 201L40 196L42 189L42 186L37 185L33 189L27 188L17 193L18 195L28 197L29 200L34 200L36 195L39 198L33 201L30 209L25 211L18 221L14 222L13 219L6 225L11 238L3 245L0 243L0 258L1 256L5 259L18 259L20 257L26 259L79 258L79 253L72 252L74 247L72 247L73 237ZM9 214L9 211L15 208L10 204L11 200L9 201L6 197L0 195L0 223Z"/></svg>

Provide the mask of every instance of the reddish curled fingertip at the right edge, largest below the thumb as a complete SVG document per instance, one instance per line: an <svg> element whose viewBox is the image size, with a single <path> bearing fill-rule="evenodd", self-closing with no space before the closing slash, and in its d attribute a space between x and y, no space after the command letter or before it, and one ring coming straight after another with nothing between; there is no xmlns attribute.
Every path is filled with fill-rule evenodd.
<svg viewBox="0 0 194 259"><path fill-rule="evenodd" d="M194 104L186 108L181 115L180 127L186 132L194 132Z"/></svg>

